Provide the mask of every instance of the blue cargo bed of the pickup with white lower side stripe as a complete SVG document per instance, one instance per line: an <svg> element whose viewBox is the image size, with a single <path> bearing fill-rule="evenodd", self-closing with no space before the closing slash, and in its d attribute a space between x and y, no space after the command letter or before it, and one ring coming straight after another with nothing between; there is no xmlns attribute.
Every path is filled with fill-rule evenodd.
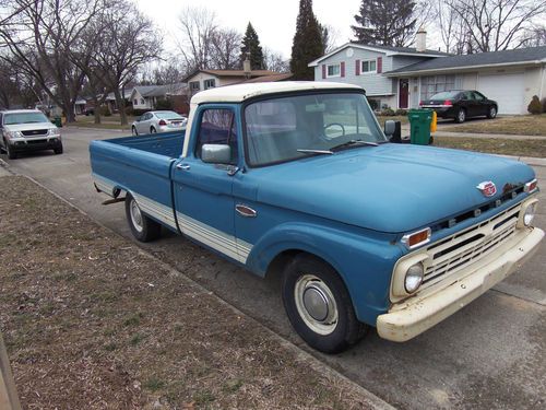
<svg viewBox="0 0 546 410"><path fill-rule="evenodd" d="M143 212L177 231L170 172L185 131L123 137L90 144L95 186L111 197L132 195Z"/></svg>

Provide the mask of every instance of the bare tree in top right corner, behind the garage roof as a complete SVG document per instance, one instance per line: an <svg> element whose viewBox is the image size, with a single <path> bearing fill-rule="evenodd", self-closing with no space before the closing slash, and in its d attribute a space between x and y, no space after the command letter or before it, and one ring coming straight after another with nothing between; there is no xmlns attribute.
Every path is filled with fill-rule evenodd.
<svg viewBox="0 0 546 410"><path fill-rule="evenodd" d="M464 30L459 35L468 36L470 52L519 48L530 40L533 22L546 14L546 2L542 0L447 0L444 3L460 19Z"/></svg>

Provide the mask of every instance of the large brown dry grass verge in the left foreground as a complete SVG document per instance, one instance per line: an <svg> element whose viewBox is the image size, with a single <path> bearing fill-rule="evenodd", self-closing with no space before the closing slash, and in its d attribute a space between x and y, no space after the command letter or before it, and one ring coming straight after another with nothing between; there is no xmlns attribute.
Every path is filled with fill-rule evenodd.
<svg viewBox="0 0 546 410"><path fill-rule="evenodd" d="M24 408L380 402L32 180L0 189L0 331Z"/></svg>

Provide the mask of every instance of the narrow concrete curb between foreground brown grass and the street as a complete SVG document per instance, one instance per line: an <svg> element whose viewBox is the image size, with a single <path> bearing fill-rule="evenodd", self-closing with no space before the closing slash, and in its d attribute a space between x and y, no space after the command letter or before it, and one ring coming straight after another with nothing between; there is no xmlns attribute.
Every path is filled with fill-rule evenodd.
<svg viewBox="0 0 546 410"><path fill-rule="evenodd" d="M2 159L0 159L0 165L2 167L7 167L8 164ZM122 236L121 234L117 233L116 231L111 230L110 227L104 225L99 221L95 220L94 218L92 218L91 215L88 215L85 211L83 211L82 209L80 209L75 204L71 203L69 200L64 199L60 195L54 192L52 190L50 190L49 188L47 188L43 184L38 183L36 179L34 179L34 178L32 178L29 176L26 176L26 175L13 174L11 171L10 171L10 174L12 176L22 176L24 178L27 178L27 179L32 180L34 184L36 184L40 188L45 189L46 191L48 191L49 194L51 194L54 197L60 199L62 202L67 203L69 207L75 209L78 212L80 212L81 214L85 215L86 218L88 218L91 221L93 221L97 225L99 225L99 226L108 230L114 235L117 235L117 236L123 238L123 241L130 241L127 237ZM380 397L376 396L371 391L367 390L365 387L363 387L359 384L353 382L347 376L343 375L342 373L337 372L333 367L331 367L328 364L323 363L322 361L320 361L319 359L317 359L312 354L306 352L305 350L302 350L301 348L297 347L296 344L294 344L289 340L283 338L278 333L274 332L273 330L271 330L266 326L262 325L260 321L258 321L253 317L251 317L251 316L247 315L246 313L239 311L237 307L235 307L234 305L229 304L228 302L226 302L225 300L223 300L222 297L219 297L216 293L211 292L210 290L207 290L206 288L204 288L203 285L201 285L199 282L195 282L193 279L191 279L188 276L183 274L182 272L176 270L175 268L173 268L168 263L166 263L166 262L157 259L154 255L152 255L150 251L141 248L133 241L131 241L131 245L135 246L136 249L138 249L138 251L141 255L143 255L143 256L152 259L155 263L157 263L158 266L161 266L162 268L164 268L165 270L167 270L173 276L182 278L192 288L194 288L198 291L206 293L206 294L213 296L214 298L216 298L216 301L222 306L229 308L230 311L233 311L238 316L246 317L254 326L257 326L260 329L262 329L263 331L265 331L265 333L269 337L271 337L276 342L278 342L278 344L281 344L283 348L285 348L285 349L289 350L290 352L293 352L296 355L296 358L297 358L296 360L298 362L308 364L311 368L313 368L314 371L317 371L317 372L325 375L327 377L336 377L336 378L340 378L340 379L344 380L345 383L347 383L353 388L353 390L357 391L360 396L363 396L365 402L368 406L370 406L371 408L377 409L377 410L395 410L395 407L389 405L387 401L384 401Z"/></svg>

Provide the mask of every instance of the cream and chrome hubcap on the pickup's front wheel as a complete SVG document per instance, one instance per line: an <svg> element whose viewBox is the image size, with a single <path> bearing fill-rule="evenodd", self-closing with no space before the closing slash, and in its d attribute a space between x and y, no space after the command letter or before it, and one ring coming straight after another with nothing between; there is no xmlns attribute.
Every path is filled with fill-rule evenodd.
<svg viewBox="0 0 546 410"><path fill-rule="evenodd" d="M305 324L319 335L337 326L337 304L330 288L314 274L301 276L294 288L296 308Z"/></svg>

